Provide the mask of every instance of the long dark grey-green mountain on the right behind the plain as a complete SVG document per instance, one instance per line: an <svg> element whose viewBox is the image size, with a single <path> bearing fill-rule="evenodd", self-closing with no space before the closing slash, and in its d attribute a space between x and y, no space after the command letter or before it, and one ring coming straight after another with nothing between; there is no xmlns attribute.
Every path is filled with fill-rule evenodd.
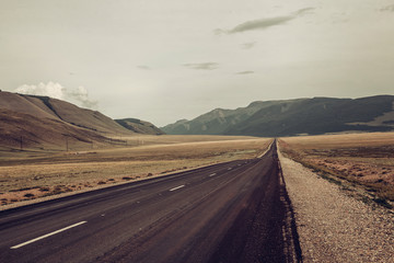
<svg viewBox="0 0 394 263"><path fill-rule="evenodd" d="M236 110L217 108L161 129L176 135L267 137L394 130L394 96L257 101Z"/></svg>

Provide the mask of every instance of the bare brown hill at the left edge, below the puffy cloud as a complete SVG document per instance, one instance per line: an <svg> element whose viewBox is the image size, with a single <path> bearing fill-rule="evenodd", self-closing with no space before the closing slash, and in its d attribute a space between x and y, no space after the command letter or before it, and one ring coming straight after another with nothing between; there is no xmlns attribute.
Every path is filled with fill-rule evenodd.
<svg viewBox="0 0 394 263"><path fill-rule="evenodd" d="M127 129L104 114L71 103L0 91L0 147L51 148L65 144L114 144L116 136L144 132Z"/></svg>

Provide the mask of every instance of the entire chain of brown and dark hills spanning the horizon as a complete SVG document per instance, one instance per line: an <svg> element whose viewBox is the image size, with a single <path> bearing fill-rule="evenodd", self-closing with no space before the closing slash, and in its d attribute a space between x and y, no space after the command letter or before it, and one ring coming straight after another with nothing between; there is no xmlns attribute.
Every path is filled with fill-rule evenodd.
<svg viewBox="0 0 394 263"><path fill-rule="evenodd" d="M112 119L48 96L0 91L0 148L5 149L124 144L123 136L139 134L277 137L390 130L394 130L393 95L256 101L235 110L216 108L160 129L138 118Z"/></svg>

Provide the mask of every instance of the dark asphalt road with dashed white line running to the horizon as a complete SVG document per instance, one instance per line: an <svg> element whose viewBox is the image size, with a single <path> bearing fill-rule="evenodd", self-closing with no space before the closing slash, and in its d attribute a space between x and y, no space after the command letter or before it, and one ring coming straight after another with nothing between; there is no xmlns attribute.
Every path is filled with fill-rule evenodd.
<svg viewBox="0 0 394 263"><path fill-rule="evenodd" d="M0 213L0 262L302 262L276 144Z"/></svg>

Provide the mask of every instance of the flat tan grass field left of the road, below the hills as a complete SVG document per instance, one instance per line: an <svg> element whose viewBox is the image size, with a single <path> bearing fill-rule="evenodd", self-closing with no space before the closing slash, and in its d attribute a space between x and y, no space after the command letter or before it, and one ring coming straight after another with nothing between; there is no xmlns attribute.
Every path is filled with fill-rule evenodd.
<svg viewBox="0 0 394 263"><path fill-rule="evenodd" d="M0 150L0 201L9 205L73 191L254 158L271 139L230 136L134 136L69 151ZM80 146L79 146L80 147Z"/></svg>

